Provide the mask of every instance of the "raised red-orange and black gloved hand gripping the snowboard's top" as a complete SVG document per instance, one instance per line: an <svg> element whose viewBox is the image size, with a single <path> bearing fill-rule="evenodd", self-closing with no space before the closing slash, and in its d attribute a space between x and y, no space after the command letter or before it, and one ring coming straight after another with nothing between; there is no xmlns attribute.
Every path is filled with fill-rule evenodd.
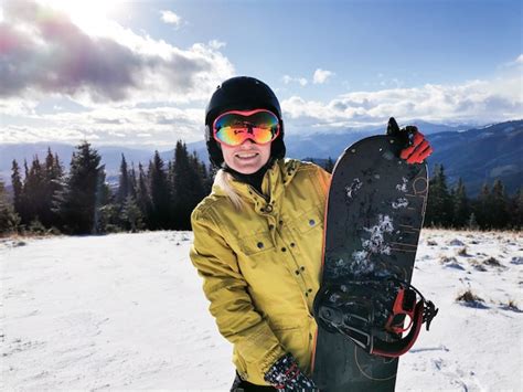
<svg viewBox="0 0 523 392"><path fill-rule="evenodd" d="M417 127L406 126L399 129L394 117L388 120L387 135L397 137L405 144L399 158L405 159L407 163L421 163L433 153L433 148Z"/></svg>

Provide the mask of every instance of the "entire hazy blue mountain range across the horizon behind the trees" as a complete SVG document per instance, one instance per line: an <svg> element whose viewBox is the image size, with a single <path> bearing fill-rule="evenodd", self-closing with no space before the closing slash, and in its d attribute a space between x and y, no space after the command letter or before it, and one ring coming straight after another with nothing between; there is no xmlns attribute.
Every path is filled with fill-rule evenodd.
<svg viewBox="0 0 523 392"><path fill-rule="evenodd" d="M429 170L436 163L444 165L449 184L462 178L469 195L477 195L483 183L501 179L508 193L514 193L523 182L523 120L511 120L482 127L467 125L436 125L415 121L434 147L428 159ZM348 129L345 131L286 136L287 156L323 161L335 159L348 146L364 137L384 134L385 127ZM31 163L34 156L44 160L47 147L57 153L67 168L74 146L65 144L9 144L0 145L0 179L10 182L12 160ZM95 146L106 166L107 179L116 182L124 153L127 162L147 167L153 151L118 146ZM203 161L207 160L204 141L188 144ZM164 161L172 159L173 149L160 151Z"/></svg>

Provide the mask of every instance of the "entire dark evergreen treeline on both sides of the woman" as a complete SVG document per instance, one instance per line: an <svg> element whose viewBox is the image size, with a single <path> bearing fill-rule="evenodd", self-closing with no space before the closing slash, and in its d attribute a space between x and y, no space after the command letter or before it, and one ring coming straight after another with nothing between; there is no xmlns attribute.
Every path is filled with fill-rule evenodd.
<svg viewBox="0 0 523 392"><path fill-rule="evenodd" d="M333 161L323 166L332 171ZM23 169L24 176L21 170ZM22 178L23 177L23 178ZM185 144L163 162L158 151L146 168L129 167L121 156L118 187L106 182L100 156L88 142L76 147L65 173L57 155L35 157L28 166L13 160L12 202L0 181L0 233L96 234L140 230L190 230L194 206L211 191L213 173ZM476 199L463 181L450 188L442 166L430 178L425 226L521 230L523 195L508 195L502 181L484 184Z"/></svg>

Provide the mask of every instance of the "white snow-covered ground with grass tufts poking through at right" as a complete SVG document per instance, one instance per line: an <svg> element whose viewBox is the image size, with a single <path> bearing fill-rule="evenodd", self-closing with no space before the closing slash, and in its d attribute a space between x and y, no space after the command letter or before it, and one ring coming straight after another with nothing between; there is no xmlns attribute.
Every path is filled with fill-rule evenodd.
<svg viewBox="0 0 523 392"><path fill-rule="evenodd" d="M191 241L0 240L0 390L227 391L232 348L207 311ZM523 389L522 257L520 233L421 232L413 284L439 314L402 357L397 391ZM468 289L483 301L456 301Z"/></svg>

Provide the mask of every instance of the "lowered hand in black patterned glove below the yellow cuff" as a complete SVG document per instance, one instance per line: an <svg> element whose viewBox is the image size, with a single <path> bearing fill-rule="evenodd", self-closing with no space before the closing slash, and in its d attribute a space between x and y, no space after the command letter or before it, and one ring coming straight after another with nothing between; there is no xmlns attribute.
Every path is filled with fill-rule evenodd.
<svg viewBox="0 0 523 392"><path fill-rule="evenodd" d="M314 382L300 371L290 353L285 354L270 367L265 373L265 381L285 392L319 392Z"/></svg>

